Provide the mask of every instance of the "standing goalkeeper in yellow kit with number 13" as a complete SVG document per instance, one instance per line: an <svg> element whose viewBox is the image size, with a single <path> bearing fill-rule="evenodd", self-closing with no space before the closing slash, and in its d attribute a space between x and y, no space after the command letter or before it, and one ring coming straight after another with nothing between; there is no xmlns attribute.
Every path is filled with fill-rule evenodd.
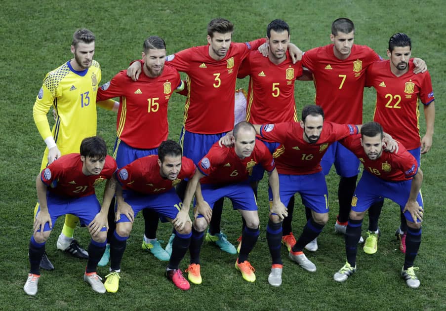
<svg viewBox="0 0 446 311"><path fill-rule="evenodd" d="M49 72L43 79L33 107L34 122L46 144L41 170L62 155L79 152L82 139L96 135L96 92L101 81L101 68L93 60L94 51L93 33L87 29L77 30L71 45L74 58ZM110 102L101 104L112 110L113 101L111 103L111 106ZM46 117L51 106L56 111L52 130ZM57 248L75 257L88 258L88 253L73 238L78 222L79 218L66 215ZM54 269L45 253L41 268Z"/></svg>

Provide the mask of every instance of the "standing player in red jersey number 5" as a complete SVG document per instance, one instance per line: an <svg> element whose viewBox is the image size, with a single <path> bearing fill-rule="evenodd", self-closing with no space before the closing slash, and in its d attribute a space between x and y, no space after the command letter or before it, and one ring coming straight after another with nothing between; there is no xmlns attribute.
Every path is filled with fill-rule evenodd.
<svg viewBox="0 0 446 311"><path fill-rule="evenodd" d="M269 45L268 57L258 51L251 51L243 61L238 78L249 76L248 103L246 120L252 124L298 122L294 100L294 82L303 79L302 63L293 64L288 52L289 26L281 20L273 20L266 29L266 42ZM278 144L258 137L268 147L271 154ZM258 182L263 178L264 170L256 165L250 177L254 193L257 195ZM284 221L283 243L288 247L296 242L291 232L294 196L288 203L288 217ZM316 240L315 240L316 241ZM316 248L315 248L316 247ZM317 250L316 244L306 246L311 251Z"/></svg>

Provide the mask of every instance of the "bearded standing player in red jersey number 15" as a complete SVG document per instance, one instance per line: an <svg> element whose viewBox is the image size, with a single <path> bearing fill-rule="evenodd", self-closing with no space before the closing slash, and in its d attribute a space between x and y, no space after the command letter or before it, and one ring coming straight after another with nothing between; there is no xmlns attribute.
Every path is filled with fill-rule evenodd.
<svg viewBox="0 0 446 311"><path fill-rule="evenodd" d="M172 93L181 91L184 83L175 68L164 64L165 54L164 40L157 36L148 37L143 43L144 66L139 79L132 81L123 70L98 91L97 99L101 101L120 97L113 154L119 168L140 157L157 155L158 146L167 139L167 105ZM109 213L111 230L108 240L113 241L114 208ZM156 258L168 261L170 256L156 237L158 215L155 213L151 220L150 225L145 226L142 248L149 250ZM109 255L110 245L107 246L100 266L107 265Z"/></svg>

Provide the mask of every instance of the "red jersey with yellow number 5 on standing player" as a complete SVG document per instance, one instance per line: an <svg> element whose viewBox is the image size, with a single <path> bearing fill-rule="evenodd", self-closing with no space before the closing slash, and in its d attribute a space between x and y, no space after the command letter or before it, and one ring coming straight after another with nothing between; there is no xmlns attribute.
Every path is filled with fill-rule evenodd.
<svg viewBox="0 0 446 311"><path fill-rule="evenodd" d="M238 78L249 76L246 120L252 124L298 121L294 81L302 76L302 63L292 63L289 52L279 65L259 51L243 61Z"/></svg>

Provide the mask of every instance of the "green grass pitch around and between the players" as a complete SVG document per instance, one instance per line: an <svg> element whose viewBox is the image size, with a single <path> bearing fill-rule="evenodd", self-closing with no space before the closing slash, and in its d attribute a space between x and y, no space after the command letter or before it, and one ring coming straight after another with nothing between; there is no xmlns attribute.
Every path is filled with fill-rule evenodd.
<svg viewBox="0 0 446 311"><path fill-rule="evenodd" d="M446 113L445 29L446 6L441 1L1 1L0 82L3 96L1 225L0 225L0 310L446 310L446 256L444 253L444 212L442 194L446 192L444 173ZM96 35L95 59L102 67L102 83L125 69L129 61L141 56L142 42L158 35L167 43L167 53L206 44L206 25L214 17L225 17L235 24L234 41L265 36L267 24L281 18L291 28L291 41L302 50L329 43L331 22L348 17L355 22L355 43L366 44L386 56L387 42L396 32L412 39L412 56L423 58L430 71L436 97L434 145L422 156L422 186L425 218L423 241L415 266L421 286L409 289L399 276L404 255L397 249L394 232L399 224L396 204L386 201L380 220L378 252L358 252L358 271L346 283L333 279L345 262L344 240L334 233L338 205L338 177L327 176L330 221L319 237L319 250L307 256L317 265L309 273L287 258L285 249L283 285L267 282L270 255L265 228L267 222L266 178L259 190L261 235L250 255L257 281L249 284L234 269L235 255L203 245L202 285L188 292L174 288L163 276L166 264L141 250L142 217L138 215L122 261L120 290L116 294L95 294L82 281L86 262L56 250L57 234L63 219L46 245L55 265L42 271L35 298L23 292L29 270L28 243L32 233L33 208L37 199L35 176L44 144L32 117L32 107L44 75L71 58L71 36L86 27ZM246 87L247 80L238 86ZM311 82L296 82L296 105L310 104L314 97ZM181 130L184 97L170 101L170 137L177 140ZM372 118L374 90L365 90L364 120ZM51 117L49 117L51 122ZM108 143L115 141L114 113L98 110L98 134ZM424 116L421 113L421 132ZM101 193L101 191L99 191ZM296 199L293 227L299 233L304 225L303 206ZM366 221L365 221L366 223ZM240 234L240 216L226 203L222 228L233 242ZM167 240L170 226L160 225L159 238ZM85 229L75 232L81 244L89 241ZM188 255L181 264L185 269ZM443 267L443 268L442 268ZM108 268L99 268L104 276Z"/></svg>

